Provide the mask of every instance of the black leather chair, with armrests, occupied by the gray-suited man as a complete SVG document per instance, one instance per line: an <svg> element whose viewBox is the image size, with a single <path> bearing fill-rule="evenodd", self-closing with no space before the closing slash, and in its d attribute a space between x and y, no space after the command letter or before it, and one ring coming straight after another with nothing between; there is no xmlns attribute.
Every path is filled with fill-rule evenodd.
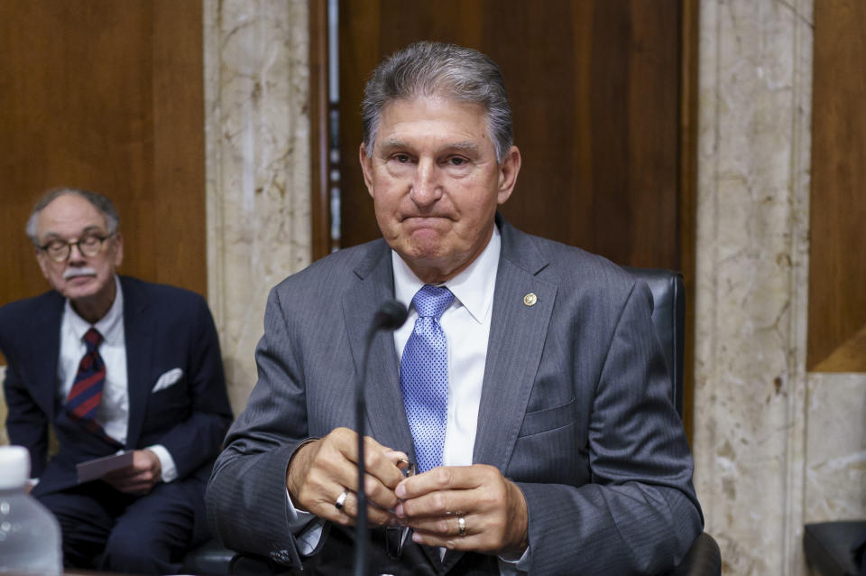
<svg viewBox="0 0 866 576"><path fill-rule="evenodd" d="M683 416L683 350L686 326L686 291L683 276L677 272L654 268L625 269L650 286L653 299L652 321L659 334L665 359L671 373L671 401ZM234 553L209 542L190 552L183 570L189 574L227 574ZM239 564L240 562L240 564ZM250 564L249 567L243 565ZM266 559L241 556L235 559L233 573L276 573L279 568ZM701 534L677 569L669 576L715 576L722 572L719 546L710 534Z"/></svg>

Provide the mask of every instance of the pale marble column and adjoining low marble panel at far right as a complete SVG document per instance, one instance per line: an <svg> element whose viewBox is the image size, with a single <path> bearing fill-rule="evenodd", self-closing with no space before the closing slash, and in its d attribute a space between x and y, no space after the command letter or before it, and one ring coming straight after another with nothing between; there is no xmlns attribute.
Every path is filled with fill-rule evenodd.
<svg viewBox="0 0 866 576"><path fill-rule="evenodd" d="M812 0L703 0L696 488L726 574L866 516L866 376L806 374Z"/></svg>

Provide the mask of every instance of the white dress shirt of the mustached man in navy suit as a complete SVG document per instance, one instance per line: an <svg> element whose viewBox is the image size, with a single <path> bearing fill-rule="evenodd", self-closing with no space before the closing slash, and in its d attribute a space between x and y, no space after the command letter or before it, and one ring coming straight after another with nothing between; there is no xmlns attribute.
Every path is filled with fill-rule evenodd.
<svg viewBox="0 0 866 576"><path fill-rule="evenodd" d="M78 364L87 352L84 335L95 328L102 335L99 356L106 364L106 383L102 389L102 401L97 409L96 421L110 437L121 444L126 443L129 430L129 389L126 378L126 337L124 332L124 293L120 280L115 275L115 302L106 315L97 323L90 324L78 316L69 299L60 321L60 361L57 363L57 395L60 404L75 384ZM149 446L147 450L156 454L161 463L161 479L170 482L178 477L178 469L169 451L161 444Z"/></svg>

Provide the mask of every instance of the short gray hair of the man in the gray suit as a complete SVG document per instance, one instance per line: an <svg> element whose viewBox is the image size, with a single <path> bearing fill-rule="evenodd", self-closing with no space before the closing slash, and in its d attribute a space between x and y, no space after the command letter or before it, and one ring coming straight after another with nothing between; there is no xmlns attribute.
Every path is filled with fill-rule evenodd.
<svg viewBox="0 0 866 576"><path fill-rule="evenodd" d="M392 100L441 96L480 104L487 131L502 162L514 135L502 71L490 57L471 48L442 42L415 42L382 60L364 88L361 104L364 153L373 153L382 108Z"/></svg>

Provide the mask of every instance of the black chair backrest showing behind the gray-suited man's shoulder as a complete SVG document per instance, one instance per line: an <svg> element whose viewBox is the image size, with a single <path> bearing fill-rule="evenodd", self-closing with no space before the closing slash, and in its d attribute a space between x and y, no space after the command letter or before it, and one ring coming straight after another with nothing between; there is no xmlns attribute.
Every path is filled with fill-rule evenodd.
<svg viewBox="0 0 866 576"><path fill-rule="evenodd" d="M661 340L671 379L670 399L683 417L683 350L685 349L686 289L683 274L660 268L622 266L652 292L652 323Z"/></svg>

